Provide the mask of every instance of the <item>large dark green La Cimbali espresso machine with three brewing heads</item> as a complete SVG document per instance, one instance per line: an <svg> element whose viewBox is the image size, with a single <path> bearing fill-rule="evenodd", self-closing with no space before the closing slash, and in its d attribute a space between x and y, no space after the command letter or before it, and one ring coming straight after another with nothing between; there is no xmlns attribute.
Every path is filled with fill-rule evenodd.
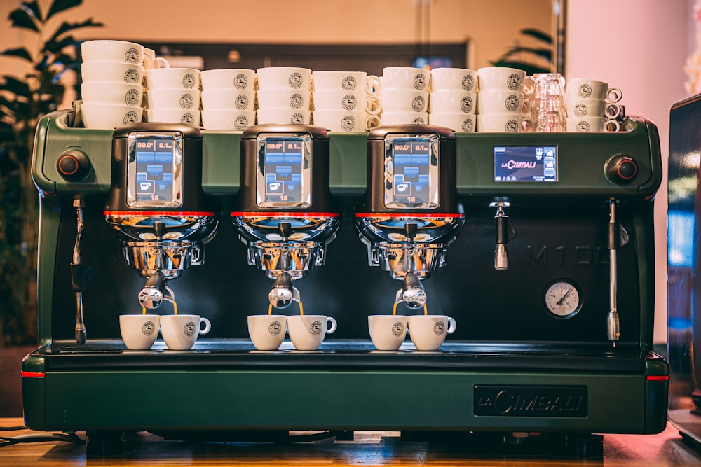
<svg viewBox="0 0 701 467"><path fill-rule="evenodd" d="M95 452L141 430L523 440L665 428L669 367L651 351L662 166L648 120L616 133L346 134L74 119L51 113L36 133L30 428L86 431ZM138 169L139 147L157 148L157 167ZM210 332L185 351L160 337L127 349L118 316L172 314L170 301ZM247 316L292 316L297 302L336 332L314 351L289 339L256 350ZM437 351L410 336L378 351L367 316L395 306L456 329Z"/></svg>

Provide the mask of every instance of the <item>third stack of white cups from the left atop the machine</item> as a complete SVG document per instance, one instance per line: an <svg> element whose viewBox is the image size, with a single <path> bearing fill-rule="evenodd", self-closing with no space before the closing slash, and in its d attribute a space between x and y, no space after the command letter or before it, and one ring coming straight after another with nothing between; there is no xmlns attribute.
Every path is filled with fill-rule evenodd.
<svg viewBox="0 0 701 467"><path fill-rule="evenodd" d="M206 130L243 131L256 121L256 74L249 69L200 72L202 126Z"/></svg>

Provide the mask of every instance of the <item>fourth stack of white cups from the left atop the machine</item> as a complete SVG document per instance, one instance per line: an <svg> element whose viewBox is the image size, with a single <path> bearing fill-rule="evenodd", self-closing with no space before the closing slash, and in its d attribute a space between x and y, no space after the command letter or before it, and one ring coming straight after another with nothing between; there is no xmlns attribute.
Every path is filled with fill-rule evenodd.
<svg viewBox="0 0 701 467"><path fill-rule="evenodd" d="M258 123L311 123L311 70L266 67L257 70Z"/></svg>

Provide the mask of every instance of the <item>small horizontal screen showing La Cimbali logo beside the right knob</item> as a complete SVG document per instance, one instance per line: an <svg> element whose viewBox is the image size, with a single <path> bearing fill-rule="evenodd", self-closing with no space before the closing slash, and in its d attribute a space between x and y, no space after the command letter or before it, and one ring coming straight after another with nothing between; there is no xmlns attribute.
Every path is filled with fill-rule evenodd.
<svg viewBox="0 0 701 467"><path fill-rule="evenodd" d="M557 147L494 146L494 181L557 181Z"/></svg>

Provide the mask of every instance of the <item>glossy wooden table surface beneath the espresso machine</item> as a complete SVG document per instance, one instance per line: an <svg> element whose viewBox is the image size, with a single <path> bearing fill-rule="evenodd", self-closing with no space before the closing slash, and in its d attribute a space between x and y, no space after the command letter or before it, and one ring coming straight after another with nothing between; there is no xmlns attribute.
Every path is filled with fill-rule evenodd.
<svg viewBox="0 0 701 467"><path fill-rule="evenodd" d="M0 426L21 426L20 418ZM36 433L3 431L12 438ZM78 433L85 439L85 433ZM353 441L309 443L165 441L151 433L132 433L118 456L86 458L84 444L50 441L0 447L0 466L701 466L701 454L672 425L658 435L604 435L604 456L582 459L551 454L506 454L457 443L408 441L397 432L362 431Z"/></svg>

